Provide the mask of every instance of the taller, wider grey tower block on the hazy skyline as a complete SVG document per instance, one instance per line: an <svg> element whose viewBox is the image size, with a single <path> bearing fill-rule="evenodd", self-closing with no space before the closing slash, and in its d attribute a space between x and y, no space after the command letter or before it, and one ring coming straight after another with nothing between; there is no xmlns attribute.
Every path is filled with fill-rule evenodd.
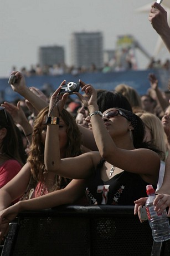
<svg viewBox="0 0 170 256"><path fill-rule="evenodd" d="M101 32L71 34L71 64L76 67L104 66L103 36Z"/></svg>

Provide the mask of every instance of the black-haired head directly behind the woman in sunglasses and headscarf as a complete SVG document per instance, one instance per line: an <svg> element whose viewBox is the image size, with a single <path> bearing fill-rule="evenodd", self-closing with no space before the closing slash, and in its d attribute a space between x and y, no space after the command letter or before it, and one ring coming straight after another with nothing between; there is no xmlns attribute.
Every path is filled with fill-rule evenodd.
<svg viewBox="0 0 170 256"><path fill-rule="evenodd" d="M121 93L116 91L103 91L97 94L97 104L101 112L107 109L112 109L113 107L120 107L132 111L130 102Z"/></svg>

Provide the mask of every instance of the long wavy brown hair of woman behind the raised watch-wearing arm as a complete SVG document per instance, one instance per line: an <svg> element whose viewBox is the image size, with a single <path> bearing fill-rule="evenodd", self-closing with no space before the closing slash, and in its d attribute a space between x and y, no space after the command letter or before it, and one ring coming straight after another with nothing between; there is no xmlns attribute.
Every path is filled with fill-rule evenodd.
<svg viewBox="0 0 170 256"><path fill-rule="evenodd" d="M44 174L47 172L44 164L44 144L42 142L42 124L45 117L48 116L49 107L45 107L39 112L33 127L32 145L30 146L30 152L28 161L30 163L31 173L33 178L38 181L44 181ZM66 133L68 135L68 141L65 150L65 157L72 157L81 154L81 134L75 119L65 109L61 112L61 117L65 122L67 128ZM55 190L64 188L70 179L66 179L56 175Z"/></svg>

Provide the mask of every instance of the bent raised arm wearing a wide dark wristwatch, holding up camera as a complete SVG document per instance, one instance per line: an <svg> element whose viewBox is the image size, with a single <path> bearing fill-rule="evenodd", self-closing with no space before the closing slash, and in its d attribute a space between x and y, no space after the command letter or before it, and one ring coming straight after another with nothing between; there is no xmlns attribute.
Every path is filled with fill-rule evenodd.
<svg viewBox="0 0 170 256"><path fill-rule="evenodd" d="M63 158L64 156L60 155L62 141L60 140L59 134L64 124L62 114L60 116L60 113L68 97L68 93L59 95L60 88L64 83L65 81L61 83L60 87L53 93L50 99L44 151L45 167L48 171L53 171L66 178L85 179L92 174L101 156L96 151L87 152L76 157ZM52 119L54 120L54 124L51 121ZM71 141L71 143L74 143L74 141Z"/></svg>

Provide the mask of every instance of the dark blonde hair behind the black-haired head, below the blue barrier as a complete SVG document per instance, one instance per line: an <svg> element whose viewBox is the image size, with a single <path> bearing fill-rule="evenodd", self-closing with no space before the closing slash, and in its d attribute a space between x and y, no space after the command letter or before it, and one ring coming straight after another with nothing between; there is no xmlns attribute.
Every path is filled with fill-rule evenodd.
<svg viewBox="0 0 170 256"><path fill-rule="evenodd" d="M125 85L124 83L120 83L120 85L117 85L115 87L115 91L125 96L126 99L130 102L131 107L142 107L141 96L131 86Z"/></svg>

